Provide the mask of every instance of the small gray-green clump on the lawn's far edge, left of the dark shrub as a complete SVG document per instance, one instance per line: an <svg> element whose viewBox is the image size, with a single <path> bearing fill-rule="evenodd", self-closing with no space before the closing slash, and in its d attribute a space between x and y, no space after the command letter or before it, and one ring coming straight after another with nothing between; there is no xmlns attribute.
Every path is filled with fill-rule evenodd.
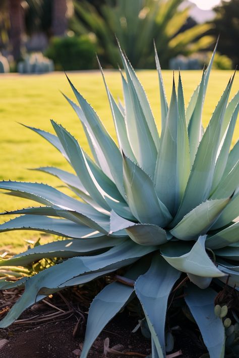
<svg viewBox="0 0 239 358"><path fill-rule="evenodd" d="M53 61L41 52L27 55L23 61L18 63L18 72L20 74L42 74L54 70Z"/></svg>

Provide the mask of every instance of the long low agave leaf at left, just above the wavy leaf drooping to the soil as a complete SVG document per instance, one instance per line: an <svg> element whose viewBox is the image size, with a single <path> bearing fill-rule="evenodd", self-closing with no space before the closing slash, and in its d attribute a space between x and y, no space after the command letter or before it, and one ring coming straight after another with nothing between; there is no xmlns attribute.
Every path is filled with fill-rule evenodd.
<svg viewBox="0 0 239 358"><path fill-rule="evenodd" d="M8 260L1 260L0 266L24 266L42 258L69 258L87 255L102 249L116 246L123 241L124 239L122 238L110 238L108 236L102 236L100 239L91 238L84 240L73 239L54 241L45 245L38 245L21 254L15 255L13 258Z"/></svg>

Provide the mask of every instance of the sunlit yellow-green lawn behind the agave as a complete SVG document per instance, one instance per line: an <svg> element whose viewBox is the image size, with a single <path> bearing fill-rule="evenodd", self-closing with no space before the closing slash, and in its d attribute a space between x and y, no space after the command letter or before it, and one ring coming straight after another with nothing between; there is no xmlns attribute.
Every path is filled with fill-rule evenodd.
<svg viewBox="0 0 239 358"><path fill-rule="evenodd" d="M206 125L214 110L220 95L231 75L230 71L214 70L209 81L204 112L203 124ZM138 76L147 92L152 110L154 112L158 128L159 124L159 92L156 71L139 71ZM176 75L177 77L177 75ZM182 71L182 80L186 103L188 103L193 90L200 81L201 71ZM113 122L106 99L102 79L98 71L88 73L71 73L70 78L94 107L109 133L115 138ZM163 71L166 94L169 97L171 91L172 72ZM106 80L113 95L122 99L120 75L114 71L106 71ZM239 78L236 76L230 98L238 89ZM53 186L61 185L61 182L47 174L31 171L28 168L40 166L58 166L71 170L64 158L50 146L42 137L30 131L20 123L35 126L47 131L53 131L49 119L57 122L79 139L82 147L89 153L81 124L67 101L59 90L73 98L70 86L63 73L53 73L40 76L1 76L1 100L0 100L0 179L38 181ZM235 129L233 144L238 139L239 126ZM33 204L29 200L15 198L1 194L0 212L16 208L27 207ZM0 223L10 219L0 217ZM26 239L37 239L41 235L43 240L50 240L49 236L36 232L2 233L1 248L19 251L25 245Z"/></svg>

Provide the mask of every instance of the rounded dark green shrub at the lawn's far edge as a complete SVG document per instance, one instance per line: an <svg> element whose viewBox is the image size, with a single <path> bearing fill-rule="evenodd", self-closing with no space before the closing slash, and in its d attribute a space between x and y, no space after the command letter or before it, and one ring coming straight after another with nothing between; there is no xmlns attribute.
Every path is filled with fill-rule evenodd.
<svg viewBox="0 0 239 358"><path fill-rule="evenodd" d="M55 37L46 50L58 70L95 68L96 45L89 36Z"/></svg>

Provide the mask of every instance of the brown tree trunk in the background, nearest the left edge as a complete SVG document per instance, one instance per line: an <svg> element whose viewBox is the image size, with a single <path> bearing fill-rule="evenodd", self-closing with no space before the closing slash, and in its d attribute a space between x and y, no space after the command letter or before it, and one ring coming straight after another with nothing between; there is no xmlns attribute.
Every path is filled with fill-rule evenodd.
<svg viewBox="0 0 239 358"><path fill-rule="evenodd" d="M12 54L17 61L21 57L22 31L23 31L23 9L21 0L9 0L10 17L10 43Z"/></svg>

